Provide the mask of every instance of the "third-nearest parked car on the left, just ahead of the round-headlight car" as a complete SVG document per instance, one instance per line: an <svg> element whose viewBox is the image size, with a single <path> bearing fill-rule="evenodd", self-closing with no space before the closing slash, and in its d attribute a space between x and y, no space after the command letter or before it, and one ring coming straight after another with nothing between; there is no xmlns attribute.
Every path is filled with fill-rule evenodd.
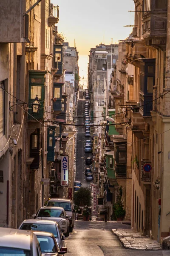
<svg viewBox="0 0 170 256"><path fill-rule="evenodd" d="M35 230L35 231L45 231L53 233L59 250L65 247L65 236L56 221L40 220L40 219L28 219L23 221L19 227L20 230Z"/></svg>

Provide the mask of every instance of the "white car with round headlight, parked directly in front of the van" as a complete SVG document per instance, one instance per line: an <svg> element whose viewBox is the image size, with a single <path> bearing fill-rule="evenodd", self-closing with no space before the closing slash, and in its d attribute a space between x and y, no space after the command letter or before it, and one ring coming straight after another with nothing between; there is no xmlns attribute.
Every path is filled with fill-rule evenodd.
<svg viewBox="0 0 170 256"><path fill-rule="evenodd" d="M41 218L50 221L56 221L62 233L69 236L69 220L64 208L62 207L41 207L36 214L32 215L33 218Z"/></svg>

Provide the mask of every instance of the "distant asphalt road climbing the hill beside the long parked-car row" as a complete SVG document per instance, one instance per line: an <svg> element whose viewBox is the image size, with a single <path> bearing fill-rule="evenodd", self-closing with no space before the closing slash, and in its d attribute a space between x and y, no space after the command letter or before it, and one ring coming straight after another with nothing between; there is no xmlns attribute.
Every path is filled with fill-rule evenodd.
<svg viewBox="0 0 170 256"><path fill-rule="evenodd" d="M82 118L78 118L77 124L82 125L84 123L84 105L85 100L79 99L78 100L78 107L77 107L77 115L82 116ZM88 140L89 137L85 137L85 128L77 126L77 154L76 154L76 180L81 181L83 187L90 188L90 182L86 181L85 177L85 168L88 167L85 165L85 158L92 156L92 154L85 153L84 145L85 140Z"/></svg>

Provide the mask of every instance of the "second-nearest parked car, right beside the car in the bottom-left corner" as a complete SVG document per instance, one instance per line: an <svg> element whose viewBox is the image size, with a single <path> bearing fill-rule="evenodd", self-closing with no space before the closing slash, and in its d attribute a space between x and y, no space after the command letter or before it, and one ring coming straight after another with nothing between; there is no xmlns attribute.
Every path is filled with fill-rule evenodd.
<svg viewBox="0 0 170 256"><path fill-rule="evenodd" d="M52 233L44 231L32 231L40 243L42 256L59 256L60 254L67 253L66 247L61 247L59 250L57 241Z"/></svg>

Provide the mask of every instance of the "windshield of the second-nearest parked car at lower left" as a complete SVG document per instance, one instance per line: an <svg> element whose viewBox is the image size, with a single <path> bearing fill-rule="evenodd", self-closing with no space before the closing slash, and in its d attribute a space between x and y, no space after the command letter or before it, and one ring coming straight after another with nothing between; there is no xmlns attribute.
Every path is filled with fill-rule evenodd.
<svg viewBox="0 0 170 256"><path fill-rule="evenodd" d="M37 235L37 239L40 243L42 253L57 253L57 247L52 237Z"/></svg>

